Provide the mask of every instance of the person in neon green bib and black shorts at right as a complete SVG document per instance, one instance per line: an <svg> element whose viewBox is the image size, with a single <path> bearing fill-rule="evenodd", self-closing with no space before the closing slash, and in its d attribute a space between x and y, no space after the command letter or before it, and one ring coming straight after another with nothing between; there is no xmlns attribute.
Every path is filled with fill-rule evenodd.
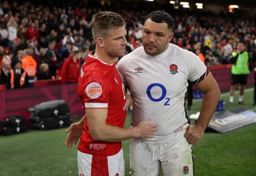
<svg viewBox="0 0 256 176"><path fill-rule="evenodd" d="M243 42L238 42L236 51L232 52L232 58L230 59L230 63L232 63L231 67L231 86L230 86L230 96L229 96L229 104L234 103L234 95L236 88L240 85L239 91L239 99L238 104L244 104L244 89L247 84L247 77L250 73L248 63L249 63L249 55L248 52L245 51L245 46Z"/></svg>

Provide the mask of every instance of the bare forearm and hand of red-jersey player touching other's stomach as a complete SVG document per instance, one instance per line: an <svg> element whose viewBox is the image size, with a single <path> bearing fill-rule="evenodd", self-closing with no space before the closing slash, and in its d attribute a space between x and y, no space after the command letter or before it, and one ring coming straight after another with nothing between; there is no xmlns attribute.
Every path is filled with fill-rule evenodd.
<svg viewBox="0 0 256 176"><path fill-rule="evenodd" d="M156 124L150 124L151 120L146 120L136 127L117 127L106 124L108 109L87 108L88 125L93 140L96 141L123 141L130 138L153 138L157 131Z"/></svg>

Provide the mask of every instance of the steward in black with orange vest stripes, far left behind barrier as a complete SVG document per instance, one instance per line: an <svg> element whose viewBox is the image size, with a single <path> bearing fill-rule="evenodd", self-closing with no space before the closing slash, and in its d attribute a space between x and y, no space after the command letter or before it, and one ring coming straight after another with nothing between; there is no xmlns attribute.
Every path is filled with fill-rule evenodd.
<svg viewBox="0 0 256 176"><path fill-rule="evenodd" d="M24 69L22 69L20 60L13 60L14 68L10 69L7 77L6 88L13 90L17 88L25 88L29 86L28 76Z"/></svg>

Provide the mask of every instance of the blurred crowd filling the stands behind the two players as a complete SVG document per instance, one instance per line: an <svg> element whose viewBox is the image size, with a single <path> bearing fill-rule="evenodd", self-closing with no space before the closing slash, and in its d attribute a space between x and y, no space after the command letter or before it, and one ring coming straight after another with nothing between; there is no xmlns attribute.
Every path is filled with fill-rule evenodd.
<svg viewBox="0 0 256 176"><path fill-rule="evenodd" d="M79 72L88 52L95 49L91 21L99 10L117 12L124 17L127 53L141 45L143 19L156 9L165 10L175 20L172 43L195 52L208 67L230 63L231 53L239 41L244 42L250 56L256 51L255 18L245 15L174 10L172 6L121 1L115 4L0 2L0 84L10 81L10 89L18 88L14 84L15 70L23 70L24 77L29 77L23 80L20 74L16 82L22 86L33 86L36 79L76 82L74 69Z"/></svg>

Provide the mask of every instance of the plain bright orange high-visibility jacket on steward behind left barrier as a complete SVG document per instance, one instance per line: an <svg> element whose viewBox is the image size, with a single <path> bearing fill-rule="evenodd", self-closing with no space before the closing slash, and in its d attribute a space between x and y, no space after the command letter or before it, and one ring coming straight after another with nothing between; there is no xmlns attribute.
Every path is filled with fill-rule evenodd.
<svg viewBox="0 0 256 176"><path fill-rule="evenodd" d="M28 76L36 76L36 61L32 56L25 56L22 60L22 68Z"/></svg>

